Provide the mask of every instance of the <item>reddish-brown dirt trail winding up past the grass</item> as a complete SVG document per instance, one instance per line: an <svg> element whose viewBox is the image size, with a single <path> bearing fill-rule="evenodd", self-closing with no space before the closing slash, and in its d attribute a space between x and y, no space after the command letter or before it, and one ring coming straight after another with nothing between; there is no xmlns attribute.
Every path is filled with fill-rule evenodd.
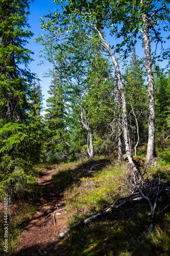
<svg viewBox="0 0 170 256"><path fill-rule="evenodd" d="M66 229L66 212L58 211L61 216L56 216L56 226L54 225L55 210L65 206L63 193L55 188L51 182L51 177L55 169L48 167L46 172L38 178L38 186L42 191L42 196L38 201L37 212L23 229L20 240L16 247L15 256L47 256L56 255L53 253L59 233ZM48 216L51 213L50 216ZM47 217L48 216L48 217ZM45 217L47 217L45 219Z"/></svg>

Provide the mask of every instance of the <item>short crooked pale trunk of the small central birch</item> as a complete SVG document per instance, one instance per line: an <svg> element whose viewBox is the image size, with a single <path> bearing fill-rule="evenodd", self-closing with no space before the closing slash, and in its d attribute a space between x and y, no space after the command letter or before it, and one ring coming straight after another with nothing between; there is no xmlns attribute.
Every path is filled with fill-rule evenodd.
<svg viewBox="0 0 170 256"><path fill-rule="evenodd" d="M81 109L81 122L83 124L83 127L87 130L88 135L87 135L87 150L88 150L88 154L90 157L93 156L94 154L94 146L93 146L93 134L92 134L92 130L89 127L89 124L87 125L84 121L84 115L83 115L83 109ZM90 148L89 148L89 144L90 144Z"/></svg>

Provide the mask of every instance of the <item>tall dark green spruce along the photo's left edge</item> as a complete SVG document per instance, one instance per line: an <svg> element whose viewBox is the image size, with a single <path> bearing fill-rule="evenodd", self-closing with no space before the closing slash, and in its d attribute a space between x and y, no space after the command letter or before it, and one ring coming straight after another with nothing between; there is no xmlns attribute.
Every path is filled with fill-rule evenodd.
<svg viewBox="0 0 170 256"><path fill-rule="evenodd" d="M27 38L33 35L26 29L30 3L0 3L0 192L9 202L17 191L31 188L34 179L30 169L38 154L38 139L29 115L36 78L28 70L32 58L25 48Z"/></svg>

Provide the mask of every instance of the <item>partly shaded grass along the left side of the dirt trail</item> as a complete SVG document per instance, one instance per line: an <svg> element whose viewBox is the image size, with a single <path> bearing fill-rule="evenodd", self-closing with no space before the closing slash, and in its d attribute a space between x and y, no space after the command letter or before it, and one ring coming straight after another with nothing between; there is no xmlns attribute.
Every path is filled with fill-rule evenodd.
<svg viewBox="0 0 170 256"><path fill-rule="evenodd" d="M34 177L46 170L45 167L50 164L37 164L34 166ZM30 191L20 191L18 200L8 205L8 253L4 251L4 201L0 199L0 255L12 255L19 241L20 233L27 225L33 215L36 213L36 200L41 195L37 184L33 183Z"/></svg>

